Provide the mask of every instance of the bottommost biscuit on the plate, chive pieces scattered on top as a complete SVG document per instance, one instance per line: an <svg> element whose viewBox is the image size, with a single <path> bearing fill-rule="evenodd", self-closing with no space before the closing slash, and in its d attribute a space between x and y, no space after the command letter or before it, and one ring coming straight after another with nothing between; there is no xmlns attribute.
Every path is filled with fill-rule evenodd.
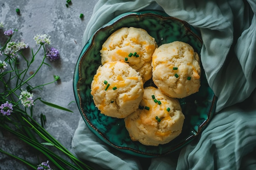
<svg viewBox="0 0 256 170"><path fill-rule="evenodd" d="M149 86L144 88L139 109L124 121L132 141L139 141L147 146L158 146L180 135L184 115L177 99Z"/></svg>

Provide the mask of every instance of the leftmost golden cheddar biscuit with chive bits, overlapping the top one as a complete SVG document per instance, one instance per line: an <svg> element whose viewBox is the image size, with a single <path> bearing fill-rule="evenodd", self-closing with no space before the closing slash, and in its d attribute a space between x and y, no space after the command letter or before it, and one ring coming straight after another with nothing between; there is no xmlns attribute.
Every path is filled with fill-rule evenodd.
<svg viewBox="0 0 256 170"><path fill-rule="evenodd" d="M121 61L99 66L91 84L95 106L104 115L124 118L139 107L144 93L139 73Z"/></svg>

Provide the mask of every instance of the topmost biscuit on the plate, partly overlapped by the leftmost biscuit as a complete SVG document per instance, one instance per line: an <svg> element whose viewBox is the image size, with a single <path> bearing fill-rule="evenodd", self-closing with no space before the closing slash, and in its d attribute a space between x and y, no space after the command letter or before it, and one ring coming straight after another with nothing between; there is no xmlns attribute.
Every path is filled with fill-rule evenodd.
<svg viewBox="0 0 256 170"><path fill-rule="evenodd" d="M123 27L112 33L103 43L101 64L125 61L139 72L143 82L152 77L152 54L157 44L144 29Z"/></svg>

